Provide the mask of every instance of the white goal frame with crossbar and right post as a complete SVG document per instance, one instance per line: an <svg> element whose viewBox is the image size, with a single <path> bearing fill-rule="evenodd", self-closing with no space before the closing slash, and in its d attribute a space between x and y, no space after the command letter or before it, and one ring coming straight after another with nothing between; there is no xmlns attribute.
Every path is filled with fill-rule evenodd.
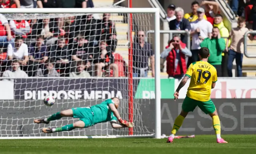
<svg viewBox="0 0 256 154"><path fill-rule="evenodd" d="M103 13L115 13L115 14L154 14L154 66L155 66L155 76L154 76L154 118L152 119L152 121L155 122L155 126L154 128L151 128L154 132L152 134L150 133L146 133L145 134L135 134L135 135L128 135L128 134L122 134L121 135L108 135L108 132L106 133L106 135L96 135L96 136L90 136L90 135L84 135L84 134L79 134L77 136L72 136L70 134L68 135L62 135L62 136L56 136L56 135L46 135L46 136L20 136L20 135L15 135L15 133L18 134L18 130L16 129L15 131L12 131L11 134L14 135L8 135L8 133L4 133L5 131L8 131L8 128L12 127L9 124L4 124L3 121L11 121L11 123L15 123L15 127L18 127L18 120L17 118L11 118L9 119L9 117L4 117L2 116L2 113L0 114L0 139L28 139L28 138L119 138L119 137L155 137L155 138L161 138L161 91L160 91L160 11L159 8L31 8L31 9L26 9L26 8L14 8L14 9L1 9L0 14L103 14ZM151 29L150 29L151 30ZM153 43L152 43L153 44ZM0 78L0 80L2 80L3 78ZM8 78L11 79L11 78ZM13 79L13 78L12 78ZM29 78L28 78L29 79ZM30 78L31 79L31 78ZM29 79L29 80L30 80ZM72 79L72 78L70 78ZM77 78L75 78L76 80L78 80ZM98 78L90 78L92 81L97 82ZM102 80L105 80L106 78L103 78ZM37 80L37 82L43 82L41 81L40 78L34 78L31 80ZM49 83L55 81L55 78L49 78ZM64 80L64 78L58 78L58 80ZM111 78L112 80L112 78ZM113 79L114 80L114 79ZM14 81L15 82L15 81ZM26 84L26 83L24 83ZM42 83L44 84L44 83ZM66 84L70 84L70 83L66 83ZM32 93L31 93L32 94ZM37 94L35 94L37 95ZM38 94L39 95L39 94ZM134 96L133 96L134 97ZM41 99L42 100L42 99ZM68 102L72 102L72 100L69 100ZM8 112L8 109L10 107L4 107L4 105L6 105L6 103L12 104L12 102L10 100L6 101L4 100L4 102L0 105L2 106L2 109L6 109L6 112ZM25 101L22 103L25 104ZM58 101L56 102L58 103ZM128 102L126 102L128 103ZM43 104L43 103L42 103ZM31 111L31 113L33 113L32 109L30 109L29 105L37 105L37 102L35 101L30 101L30 103L27 105L24 105L24 107L22 107L21 110L26 110L29 109L29 111ZM82 105L79 103L79 105ZM86 104L84 104L86 105ZM34 107L33 106L33 107ZM128 105L127 105L128 106ZM136 105L135 105L136 106ZM54 106L52 106L54 107ZM73 105L67 105L66 107L71 108L73 107ZM46 108L44 107L44 105L40 105L40 109L41 108ZM48 107L47 110L51 110L51 107ZM135 111L136 109L134 109L134 112L138 112ZM55 111L55 110L54 110ZM56 110L57 111L57 110ZM130 111L130 110L129 110ZM120 111L122 112L122 111ZM128 113L127 113L128 114ZM47 115L47 114L46 114ZM18 116L18 115L17 115ZM126 115L126 117L128 117L128 115ZM38 118L38 117L37 117ZM139 117L140 118L140 117ZM28 117L23 117L24 120L29 119ZM128 119L127 119L128 120ZM150 119L148 119L150 121ZM31 122L31 120L28 120ZM136 119L134 119L134 122L136 121ZM4 127L1 127L1 125L5 125ZM33 123L27 123L26 125L34 125ZM62 125L62 123L58 123L58 126ZM136 125L136 123L135 123ZM45 125L45 127L47 127L47 125ZM143 126L142 126L143 127ZM42 127L40 127L42 128ZM5 130L6 129L6 130ZM147 128L145 128L147 129ZM39 129L38 129L39 130ZM90 130L88 130L90 131ZM104 131L104 129L102 130ZM97 132L97 130L95 130L95 132ZM7 135L6 135L7 134ZM98 134L98 133L96 133Z"/></svg>

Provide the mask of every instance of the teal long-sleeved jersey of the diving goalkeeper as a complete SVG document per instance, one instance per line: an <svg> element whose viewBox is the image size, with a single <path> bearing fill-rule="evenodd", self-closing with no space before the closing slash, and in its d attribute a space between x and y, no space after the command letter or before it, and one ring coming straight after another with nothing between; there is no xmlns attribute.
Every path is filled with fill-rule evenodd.
<svg viewBox="0 0 256 154"><path fill-rule="evenodd" d="M97 123L103 123L107 121L117 121L114 113L108 107L108 104L114 104L112 99L107 99L98 105L94 105L91 107L93 112L93 123L94 125Z"/></svg>

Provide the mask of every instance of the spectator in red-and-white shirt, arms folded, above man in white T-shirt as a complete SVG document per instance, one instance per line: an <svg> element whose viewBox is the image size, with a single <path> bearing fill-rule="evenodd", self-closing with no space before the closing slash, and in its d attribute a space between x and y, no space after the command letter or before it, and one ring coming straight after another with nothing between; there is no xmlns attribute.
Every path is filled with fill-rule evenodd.
<svg viewBox="0 0 256 154"><path fill-rule="evenodd" d="M11 20L10 28L12 35L22 35L23 38L27 37L27 33L30 33L30 25L26 20Z"/></svg>

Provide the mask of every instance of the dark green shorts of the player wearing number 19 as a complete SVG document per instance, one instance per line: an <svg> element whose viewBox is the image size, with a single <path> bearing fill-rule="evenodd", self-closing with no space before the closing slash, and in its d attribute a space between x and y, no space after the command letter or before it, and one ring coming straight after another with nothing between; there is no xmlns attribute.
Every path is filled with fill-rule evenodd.
<svg viewBox="0 0 256 154"><path fill-rule="evenodd" d="M209 101L198 101L188 96L185 97L182 103L182 110L185 112L193 112L196 106L198 106L205 114L214 113L216 110L211 99Z"/></svg>

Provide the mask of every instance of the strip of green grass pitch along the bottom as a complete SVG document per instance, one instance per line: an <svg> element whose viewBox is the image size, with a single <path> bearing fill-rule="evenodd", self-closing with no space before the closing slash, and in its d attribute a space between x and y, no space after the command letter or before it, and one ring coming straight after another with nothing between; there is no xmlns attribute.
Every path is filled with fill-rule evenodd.
<svg viewBox="0 0 256 154"><path fill-rule="evenodd" d="M195 138L22 139L0 140L0 154L256 154L256 135L215 135Z"/></svg>

